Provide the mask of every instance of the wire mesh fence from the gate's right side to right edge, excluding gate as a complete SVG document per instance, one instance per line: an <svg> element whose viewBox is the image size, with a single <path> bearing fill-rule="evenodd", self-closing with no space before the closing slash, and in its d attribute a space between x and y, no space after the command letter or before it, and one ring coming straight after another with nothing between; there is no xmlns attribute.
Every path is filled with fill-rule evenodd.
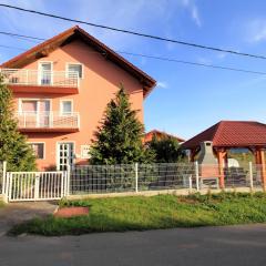
<svg viewBox="0 0 266 266"><path fill-rule="evenodd" d="M197 163L80 165L70 174L70 194L263 187L262 166L198 165Z"/></svg>

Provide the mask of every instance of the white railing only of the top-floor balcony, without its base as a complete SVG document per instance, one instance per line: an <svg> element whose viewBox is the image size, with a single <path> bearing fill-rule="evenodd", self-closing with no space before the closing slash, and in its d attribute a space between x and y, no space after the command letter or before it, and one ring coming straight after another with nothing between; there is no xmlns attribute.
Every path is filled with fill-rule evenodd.
<svg viewBox="0 0 266 266"><path fill-rule="evenodd" d="M9 85L79 88L79 72L0 69L3 82Z"/></svg>

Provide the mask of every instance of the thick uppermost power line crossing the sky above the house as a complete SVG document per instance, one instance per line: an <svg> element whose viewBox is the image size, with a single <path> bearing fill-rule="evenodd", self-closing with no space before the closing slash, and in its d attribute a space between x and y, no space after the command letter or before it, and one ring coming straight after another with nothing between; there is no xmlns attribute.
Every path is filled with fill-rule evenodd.
<svg viewBox="0 0 266 266"><path fill-rule="evenodd" d="M71 18L57 16L57 14L51 14L51 13L44 13L44 12L41 12L41 11L24 9L24 8L11 6L11 4L6 4L6 3L0 3L0 7L9 8L9 9L16 9L16 10L19 10L19 11L40 14L40 16L50 17L50 18L54 18L54 19L60 19L60 20L64 20L64 21L71 21L71 22L75 22L75 23L86 24L86 25L91 25L91 27L105 29L105 30L112 30L112 31L123 32L123 33L133 34L133 35L137 35L137 37L150 38L150 39L154 39L154 40L158 40L158 41L166 41L166 42L177 43L177 44L182 44L182 45L198 48L198 49L212 50L212 51L216 51L216 52L225 52L225 53L249 57L249 58L256 58L256 59L266 59L265 55L244 53L244 52L238 52L238 51L234 51L234 50L226 50L226 49L222 49L222 48L208 47L208 45L203 45L203 44L198 44L198 43L192 43L192 42L178 41L178 40L174 40L174 39L167 39L167 38L163 38L163 37L158 37L158 35L151 35L151 34L146 34L146 33L142 33L142 32L113 28L113 27L109 27L109 25L104 25L104 24L96 24L96 23L92 23L92 22L88 22L88 21L75 20L75 19L71 19Z"/></svg>

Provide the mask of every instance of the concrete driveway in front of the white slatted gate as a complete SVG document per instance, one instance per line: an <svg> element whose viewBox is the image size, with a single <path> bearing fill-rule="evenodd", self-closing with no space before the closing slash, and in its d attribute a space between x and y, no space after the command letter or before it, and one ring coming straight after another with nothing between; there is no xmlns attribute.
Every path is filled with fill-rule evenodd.
<svg viewBox="0 0 266 266"><path fill-rule="evenodd" d="M52 214L57 208L53 202L9 203L0 208L0 237L12 227L37 216Z"/></svg>

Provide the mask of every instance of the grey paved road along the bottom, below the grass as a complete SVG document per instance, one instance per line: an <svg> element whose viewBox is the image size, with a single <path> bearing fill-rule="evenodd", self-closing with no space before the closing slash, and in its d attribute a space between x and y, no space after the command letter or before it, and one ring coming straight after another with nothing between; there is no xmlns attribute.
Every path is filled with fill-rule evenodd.
<svg viewBox="0 0 266 266"><path fill-rule="evenodd" d="M266 265L266 225L0 237L0 265Z"/></svg>

